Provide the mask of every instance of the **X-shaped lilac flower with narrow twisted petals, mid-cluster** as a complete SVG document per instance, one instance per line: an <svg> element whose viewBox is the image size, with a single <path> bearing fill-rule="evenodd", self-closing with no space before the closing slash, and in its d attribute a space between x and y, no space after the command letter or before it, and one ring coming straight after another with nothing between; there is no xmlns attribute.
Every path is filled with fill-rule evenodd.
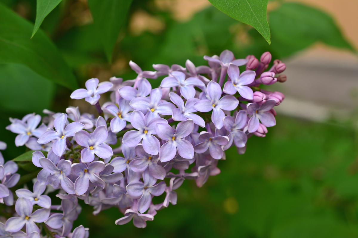
<svg viewBox="0 0 358 238"><path fill-rule="evenodd" d="M197 112L197 110L194 108L194 103L199 101L198 98L189 98L187 102L185 102L184 106L184 101L178 94L170 92L169 97L170 100L176 106L178 106L178 108L173 109L173 115L171 116L174 121L185 121L189 118L192 119L195 124L201 127L205 127L204 119L193 113Z"/></svg>

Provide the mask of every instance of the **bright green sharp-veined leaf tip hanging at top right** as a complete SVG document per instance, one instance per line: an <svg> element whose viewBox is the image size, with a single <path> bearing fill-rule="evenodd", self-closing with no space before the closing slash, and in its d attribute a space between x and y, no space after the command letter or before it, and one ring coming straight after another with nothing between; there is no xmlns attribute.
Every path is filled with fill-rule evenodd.
<svg viewBox="0 0 358 238"><path fill-rule="evenodd" d="M270 27L267 23L267 0L209 0L217 9L233 19L255 28L271 44Z"/></svg>

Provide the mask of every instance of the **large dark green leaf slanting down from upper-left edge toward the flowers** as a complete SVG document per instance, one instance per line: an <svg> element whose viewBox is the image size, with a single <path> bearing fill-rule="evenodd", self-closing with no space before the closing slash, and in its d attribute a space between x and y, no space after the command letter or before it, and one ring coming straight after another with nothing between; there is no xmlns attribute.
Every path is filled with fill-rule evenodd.
<svg viewBox="0 0 358 238"><path fill-rule="evenodd" d="M57 47L42 31L30 39L33 25L0 4L0 64L26 65L47 80L78 88Z"/></svg>

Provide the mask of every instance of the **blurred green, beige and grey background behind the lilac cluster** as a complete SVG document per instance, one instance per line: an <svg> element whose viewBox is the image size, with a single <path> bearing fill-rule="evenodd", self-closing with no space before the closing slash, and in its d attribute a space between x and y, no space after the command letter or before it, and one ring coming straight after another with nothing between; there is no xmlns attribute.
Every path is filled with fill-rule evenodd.
<svg viewBox="0 0 358 238"><path fill-rule="evenodd" d="M0 2L35 21L35 0ZM236 58L270 51L287 65L287 81L266 88L286 95L275 107L277 125L266 138L250 138L245 155L226 151L221 173L202 188L185 181L176 191L178 204L158 211L145 229L131 222L116 226L123 216L118 209L93 216L83 203L74 227L89 227L92 238L358 237L358 1L269 1L267 10L271 45L207 0L134 0L110 61L86 0L62 1L50 12L37 34L54 42L53 62L62 64L63 58L81 87L92 77L134 79L130 60L143 70L153 70L152 64L184 66L187 59L199 66L207 65L203 55L225 49ZM0 26L9 24L4 19ZM17 30L21 35L23 29ZM24 32L30 38L32 28ZM41 48L36 47L30 50ZM0 62L0 82L5 160L25 151L5 130L9 117L42 114L43 108L64 112L69 105L95 113L84 100L71 100L71 89L21 64ZM160 80L151 83L158 86Z"/></svg>

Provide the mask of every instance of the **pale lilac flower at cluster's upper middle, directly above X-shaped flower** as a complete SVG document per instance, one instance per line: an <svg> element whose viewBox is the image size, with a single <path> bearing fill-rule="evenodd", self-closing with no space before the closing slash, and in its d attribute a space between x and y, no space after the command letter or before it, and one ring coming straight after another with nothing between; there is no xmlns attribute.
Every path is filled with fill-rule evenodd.
<svg viewBox="0 0 358 238"><path fill-rule="evenodd" d="M185 74L179 71L174 71L171 73L171 76L165 77L161 81L160 86L164 88L179 87L180 94L186 99L195 96L195 88L193 86L205 88L205 84L201 80L194 77L185 79Z"/></svg>

